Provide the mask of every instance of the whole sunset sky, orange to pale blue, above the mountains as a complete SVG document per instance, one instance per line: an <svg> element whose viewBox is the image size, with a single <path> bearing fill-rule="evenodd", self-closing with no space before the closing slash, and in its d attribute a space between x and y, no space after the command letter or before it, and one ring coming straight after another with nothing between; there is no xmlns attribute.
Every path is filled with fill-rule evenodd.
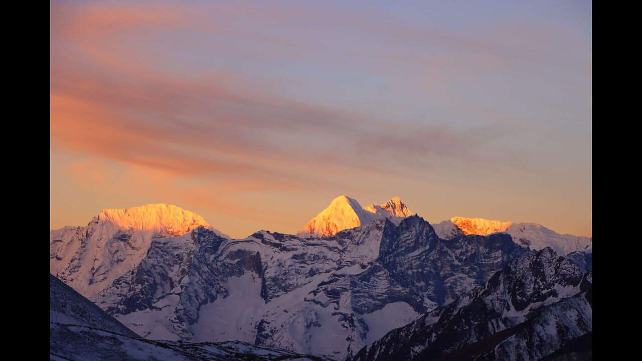
<svg viewBox="0 0 642 361"><path fill-rule="evenodd" d="M590 1L51 1L50 227L339 195L592 235Z"/></svg>

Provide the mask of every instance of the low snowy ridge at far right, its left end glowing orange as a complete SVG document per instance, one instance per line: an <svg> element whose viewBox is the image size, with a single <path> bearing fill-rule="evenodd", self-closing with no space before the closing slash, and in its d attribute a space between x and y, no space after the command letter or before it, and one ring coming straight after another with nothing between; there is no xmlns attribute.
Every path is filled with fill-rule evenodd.
<svg viewBox="0 0 642 361"><path fill-rule="evenodd" d="M593 247L593 238L559 234L536 223L500 222L483 218L453 217L434 225L435 232L444 240L451 240L462 234L510 234L517 244L539 251L551 247L559 254L575 251L588 251Z"/></svg>

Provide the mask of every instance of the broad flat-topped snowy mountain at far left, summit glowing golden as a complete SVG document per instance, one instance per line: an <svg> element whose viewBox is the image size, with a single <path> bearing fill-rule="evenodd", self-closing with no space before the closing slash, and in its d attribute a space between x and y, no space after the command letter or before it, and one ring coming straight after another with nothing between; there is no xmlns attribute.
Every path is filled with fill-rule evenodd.
<svg viewBox="0 0 642 361"><path fill-rule="evenodd" d="M152 240L206 227L190 211L168 204L103 209L85 227L49 233L49 271L85 297L92 297L143 260ZM229 238L229 237L227 237Z"/></svg>

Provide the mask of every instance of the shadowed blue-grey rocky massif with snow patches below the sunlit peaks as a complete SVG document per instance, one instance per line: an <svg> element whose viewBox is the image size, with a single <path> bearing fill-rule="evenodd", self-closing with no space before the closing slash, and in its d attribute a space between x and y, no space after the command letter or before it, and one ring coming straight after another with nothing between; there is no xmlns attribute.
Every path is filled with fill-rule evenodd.
<svg viewBox="0 0 642 361"><path fill-rule="evenodd" d="M148 339L240 340L342 359L489 279L528 249L507 234L442 240L419 216L324 238L198 228L154 240L93 301Z"/></svg>

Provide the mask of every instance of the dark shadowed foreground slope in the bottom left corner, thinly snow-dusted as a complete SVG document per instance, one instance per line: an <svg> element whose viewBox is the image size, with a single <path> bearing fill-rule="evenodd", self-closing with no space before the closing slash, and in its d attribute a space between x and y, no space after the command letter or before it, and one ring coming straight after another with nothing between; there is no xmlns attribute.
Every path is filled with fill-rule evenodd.
<svg viewBox="0 0 642 361"><path fill-rule="evenodd" d="M65 361L329 361L245 342L146 340L50 275L49 359Z"/></svg>

